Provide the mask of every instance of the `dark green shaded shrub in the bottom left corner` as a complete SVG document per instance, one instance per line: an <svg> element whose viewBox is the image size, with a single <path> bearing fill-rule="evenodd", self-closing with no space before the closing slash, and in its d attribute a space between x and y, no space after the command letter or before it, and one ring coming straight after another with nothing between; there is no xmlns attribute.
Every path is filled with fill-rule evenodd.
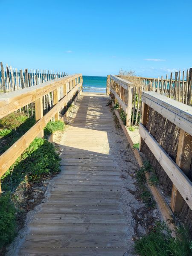
<svg viewBox="0 0 192 256"><path fill-rule="evenodd" d="M0 197L0 248L12 241L16 230L16 209L10 194Z"/></svg>

